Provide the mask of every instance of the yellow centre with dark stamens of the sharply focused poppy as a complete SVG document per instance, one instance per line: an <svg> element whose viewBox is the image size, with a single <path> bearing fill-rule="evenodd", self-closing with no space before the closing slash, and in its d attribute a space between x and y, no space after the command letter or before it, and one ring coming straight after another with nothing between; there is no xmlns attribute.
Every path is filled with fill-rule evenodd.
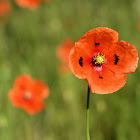
<svg viewBox="0 0 140 140"><path fill-rule="evenodd" d="M95 66L100 66L101 64L105 63L105 55L103 53L98 53L93 57L93 63Z"/></svg>

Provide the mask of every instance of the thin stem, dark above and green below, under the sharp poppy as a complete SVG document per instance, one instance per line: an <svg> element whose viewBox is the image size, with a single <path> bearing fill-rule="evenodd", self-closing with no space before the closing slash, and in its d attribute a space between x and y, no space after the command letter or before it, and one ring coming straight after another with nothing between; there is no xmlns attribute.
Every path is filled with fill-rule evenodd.
<svg viewBox="0 0 140 140"><path fill-rule="evenodd" d="M88 93L87 93L87 140L90 140L90 134L89 134L89 101L90 101L90 88L88 86Z"/></svg>

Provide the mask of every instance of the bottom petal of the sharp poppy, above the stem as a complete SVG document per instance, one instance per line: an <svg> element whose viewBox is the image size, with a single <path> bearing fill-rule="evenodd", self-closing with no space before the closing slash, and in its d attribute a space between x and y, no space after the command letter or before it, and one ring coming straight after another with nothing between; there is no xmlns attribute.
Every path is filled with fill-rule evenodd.
<svg viewBox="0 0 140 140"><path fill-rule="evenodd" d="M102 71L99 72L93 68L86 80L93 93L109 94L122 88L126 79L126 74L115 74L106 66L103 66Z"/></svg>

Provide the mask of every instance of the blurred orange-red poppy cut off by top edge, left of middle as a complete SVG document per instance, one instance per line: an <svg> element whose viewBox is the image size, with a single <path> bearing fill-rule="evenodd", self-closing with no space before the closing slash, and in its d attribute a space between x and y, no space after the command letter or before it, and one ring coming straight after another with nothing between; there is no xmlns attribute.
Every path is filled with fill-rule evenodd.
<svg viewBox="0 0 140 140"><path fill-rule="evenodd" d="M40 4L42 0L15 0L18 6L35 9Z"/></svg>

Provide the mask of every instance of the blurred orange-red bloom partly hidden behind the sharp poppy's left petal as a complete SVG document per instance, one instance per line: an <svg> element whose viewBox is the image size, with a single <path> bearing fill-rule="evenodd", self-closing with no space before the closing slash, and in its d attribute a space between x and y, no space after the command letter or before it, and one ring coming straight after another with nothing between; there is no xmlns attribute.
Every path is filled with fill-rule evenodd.
<svg viewBox="0 0 140 140"><path fill-rule="evenodd" d="M72 41L71 39L65 39L56 51L57 56L61 60L61 64L59 66L59 71L61 73L67 73L70 71L69 53L73 46L74 41Z"/></svg>

